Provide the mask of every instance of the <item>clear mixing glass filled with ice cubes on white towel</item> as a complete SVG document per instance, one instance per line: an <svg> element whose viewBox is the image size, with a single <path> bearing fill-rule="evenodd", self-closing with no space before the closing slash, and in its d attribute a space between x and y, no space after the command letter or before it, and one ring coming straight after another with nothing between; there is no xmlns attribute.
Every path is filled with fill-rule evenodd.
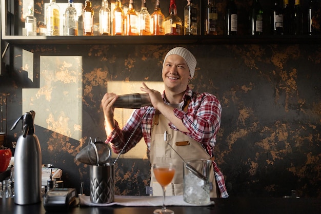
<svg viewBox="0 0 321 214"><path fill-rule="evenodd" d="M186 160L184 163L183 190L185 202L197 205L210 204L209 173L211 164L211 161L206 159Z"/></svg>

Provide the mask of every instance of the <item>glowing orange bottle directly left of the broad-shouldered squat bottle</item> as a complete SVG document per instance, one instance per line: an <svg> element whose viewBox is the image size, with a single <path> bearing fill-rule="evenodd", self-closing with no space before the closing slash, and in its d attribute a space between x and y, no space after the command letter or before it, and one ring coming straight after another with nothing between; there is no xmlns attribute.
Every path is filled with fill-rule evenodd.
<svg viewBox="0 0 321 214"><path fill-rule="evenodd" d="M156 0L155 10L151 15L151 35L165 35L164 20L165 16L160 10L160 0Z"/></svg>

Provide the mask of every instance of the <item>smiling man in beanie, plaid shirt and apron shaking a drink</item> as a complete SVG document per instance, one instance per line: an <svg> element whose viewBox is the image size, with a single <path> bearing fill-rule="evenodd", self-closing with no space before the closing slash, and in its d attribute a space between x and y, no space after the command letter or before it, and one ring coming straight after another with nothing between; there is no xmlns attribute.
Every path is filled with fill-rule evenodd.
<svg viewBox="0 0 321 214"><path fill-rule="evenodd" d="M168 195L183 194L183 161L172 148L183 159L210 159L210 197L227 198L224 176L213 158L222 108L213 94L198 93L189 87L195 67L196 59L189 50L183 47L171 49L163 63L164 92L143 83L141 90L149 94L152 106L134 110L122 129L114 120L113 104L118 96L106 93L102 99L106 143L119 153L130 138L123 151L127 152L144 138L151 165L170 162L176 166L172 183L167 186ZM161 196L162 190L157 186L153 170L151 174L153 196Z"/></svg>

